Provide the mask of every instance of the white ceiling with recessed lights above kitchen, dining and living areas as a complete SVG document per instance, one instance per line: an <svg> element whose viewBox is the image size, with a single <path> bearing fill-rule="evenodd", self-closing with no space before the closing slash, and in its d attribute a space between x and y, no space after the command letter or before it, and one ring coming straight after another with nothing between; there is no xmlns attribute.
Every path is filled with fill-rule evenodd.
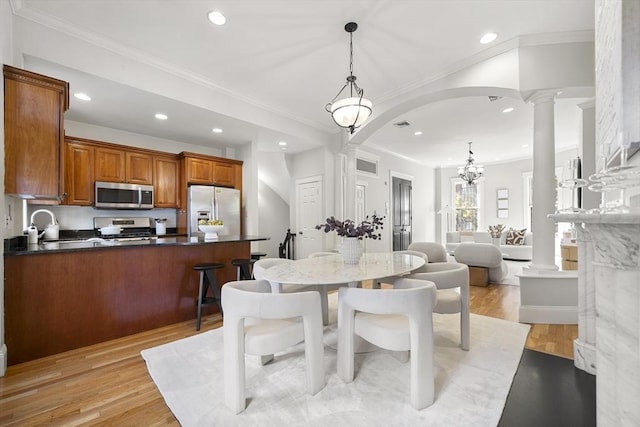
<svg viewBox="0 0 640 427"><path fill-rule="evenodd" d="M208 87L327 134L339 133L324 106L348 74L349 38L356 21L354 74L376 104L469 64L486 49L542 33L593 31L593 0L12 0L18 16L92 43L138 55L197 76ZM222 11L227 25L206 20ZM478 43L487 31L491 45ZM25 57L25 67L70 82L69 120L200 145L245 144L260 127L163 96ZM115 78L114 78L115 80ZM578 142L580 99L556 106L556 145ZM514 106L512 113L502 109ZM166 122L153 119L162 111ZM406 120L408 128L394 122ZM224 132L214 135L212 127ZM374 146L428 165L460 164L468 141L479 163L530 156L532 109L507 98L462 98L433 103L393 120L367 140ZM276 129L277 130L277 129ZM420 130L419 137L413 132ZM273 131L273 130L271 130ZM288 137L290 152L313 142ZM276 138L277 139L277 138ZM523 147L528 145L528 147ZM278 150L261 142L260 150Z"/></svg>

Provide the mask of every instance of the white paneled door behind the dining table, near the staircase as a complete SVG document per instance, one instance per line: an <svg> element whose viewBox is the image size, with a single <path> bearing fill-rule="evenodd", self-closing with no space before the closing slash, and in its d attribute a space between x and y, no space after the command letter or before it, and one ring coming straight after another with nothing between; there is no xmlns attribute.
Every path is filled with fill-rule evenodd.
<svg viewBox="0 0 640 427"><path fill-rule="evenodd" d="M322 212L322 177L305 178L296 181L296 224L297 236L295 258L301 259L310 253L322 251L322 230L317 224L326 219Z"/></svg>

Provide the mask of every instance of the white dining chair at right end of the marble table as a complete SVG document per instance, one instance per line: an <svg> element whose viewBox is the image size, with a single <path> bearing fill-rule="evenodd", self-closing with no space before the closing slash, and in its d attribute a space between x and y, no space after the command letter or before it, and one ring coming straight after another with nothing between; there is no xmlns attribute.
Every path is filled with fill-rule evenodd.
<svg viewBox="0 0 640 427"><path fill-rule="evenodd" d="M434 262L425 268L425 272L407 277L435 283L438 291L433 312L460 313L460 347L469 350L469 267L457 262Z"/></svg>

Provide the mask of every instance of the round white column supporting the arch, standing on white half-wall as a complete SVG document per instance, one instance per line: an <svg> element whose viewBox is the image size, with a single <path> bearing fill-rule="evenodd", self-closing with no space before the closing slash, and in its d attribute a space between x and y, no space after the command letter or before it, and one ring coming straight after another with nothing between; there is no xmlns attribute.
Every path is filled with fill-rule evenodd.
<svg viewBox="0 0 640 427"><path fill-rule="evenodd" d="M533 108L533 259L529 270L556 271L555 226L547 215L555 212L555 122L557 91L535 93ZM526 274L526 273L525 273Z"/></svg>

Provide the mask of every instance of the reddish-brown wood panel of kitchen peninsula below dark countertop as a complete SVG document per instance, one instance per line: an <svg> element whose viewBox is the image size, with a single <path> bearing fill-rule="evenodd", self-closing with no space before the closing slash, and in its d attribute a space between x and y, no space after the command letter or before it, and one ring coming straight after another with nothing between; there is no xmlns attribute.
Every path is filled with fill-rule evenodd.
<svg viewBox="0 0 640 427"><path fill-rule="evenodd" d="M226 283L236 279L231 260L249 255L243 241L5 256L9 365L190 319L195 329L192 266L221 262Z"/></svg>

